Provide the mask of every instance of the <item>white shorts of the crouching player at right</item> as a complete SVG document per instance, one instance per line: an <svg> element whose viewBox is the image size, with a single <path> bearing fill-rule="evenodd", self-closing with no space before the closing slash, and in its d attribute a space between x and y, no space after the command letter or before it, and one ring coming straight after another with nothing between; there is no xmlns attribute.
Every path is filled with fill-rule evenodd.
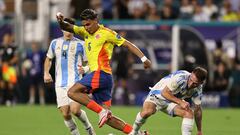
<svg viewBox="0 0 240 135"><path fill-rule="evenodd" d="M158 111L162 111L170 116L174 116L174 108L177 105L163 98L161 94L149 94L144 102L155 104Z"/></svg>

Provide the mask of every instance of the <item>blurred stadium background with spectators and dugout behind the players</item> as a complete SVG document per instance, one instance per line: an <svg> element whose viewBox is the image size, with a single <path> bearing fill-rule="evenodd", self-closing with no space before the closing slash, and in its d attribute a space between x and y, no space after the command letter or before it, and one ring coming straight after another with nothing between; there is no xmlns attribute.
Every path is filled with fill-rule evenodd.
<svg viewBox="0 0 240 135"><path fill-rule="evenodd" d="M141 105L163 76L202 66L209 71L203 106L240 107L239 0L0 0L2 106L55 104L54 84L43 83L48 46L62 36L55 15L78 20L86 8L153 63L144 71L138 58L115 47L113 104Z"/></svg>

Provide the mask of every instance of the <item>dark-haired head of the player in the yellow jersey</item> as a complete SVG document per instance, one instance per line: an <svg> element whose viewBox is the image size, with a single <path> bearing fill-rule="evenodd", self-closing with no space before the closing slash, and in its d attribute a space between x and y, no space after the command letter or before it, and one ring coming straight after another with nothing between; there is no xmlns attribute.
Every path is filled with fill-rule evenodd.
<svg viewBox="0 0 240 135"><path fill-rule="evenodd" d="M93 34L98 29L98 14L93 9L85 9L80 14L80 20L82 22L82 26L86 29L86 31L90 34Z"/></svg>

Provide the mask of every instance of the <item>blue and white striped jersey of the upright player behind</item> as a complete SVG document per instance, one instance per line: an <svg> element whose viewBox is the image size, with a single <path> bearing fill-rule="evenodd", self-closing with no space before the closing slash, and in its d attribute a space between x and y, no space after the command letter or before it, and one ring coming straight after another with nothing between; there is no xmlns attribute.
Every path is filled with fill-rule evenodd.
<svg viewBox="0 0 240 135"><path fill-rule="evenodd" d="M47 57L56 57L55 62L55 86L71 87L82 78L78 72L78 65L87 61L83 47L84 42L77 38L64 40L63 37L52 40Z"/></svg>

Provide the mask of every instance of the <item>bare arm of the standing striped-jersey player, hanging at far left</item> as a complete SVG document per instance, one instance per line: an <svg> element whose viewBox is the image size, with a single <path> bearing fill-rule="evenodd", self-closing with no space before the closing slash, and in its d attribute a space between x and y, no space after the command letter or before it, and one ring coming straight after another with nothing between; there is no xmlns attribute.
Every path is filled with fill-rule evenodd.
<svg viewBox="0 0 240 135"><path fill-rule="evenodd" d="M53 82L52 76L49 73L51 66L52 66L52 59L46 57L44 61L44 77L43 77L45 83Z"/></svg>

